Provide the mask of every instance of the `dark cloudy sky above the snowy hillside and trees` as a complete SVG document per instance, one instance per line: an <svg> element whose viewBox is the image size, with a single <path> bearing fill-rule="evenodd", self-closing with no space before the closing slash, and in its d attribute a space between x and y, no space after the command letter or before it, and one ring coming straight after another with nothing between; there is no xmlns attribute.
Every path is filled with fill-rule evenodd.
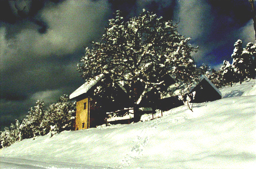
<svg viewBox="0 0 256 169"><path fill-rule="evenodd" d="M84 47L99 41L116 10L131 18L144 8L178 23L199 46L198 66L232 62L238 39L255 43L248 0L0 0L0 130L38 99L48 106L80 87Z"/></svg>

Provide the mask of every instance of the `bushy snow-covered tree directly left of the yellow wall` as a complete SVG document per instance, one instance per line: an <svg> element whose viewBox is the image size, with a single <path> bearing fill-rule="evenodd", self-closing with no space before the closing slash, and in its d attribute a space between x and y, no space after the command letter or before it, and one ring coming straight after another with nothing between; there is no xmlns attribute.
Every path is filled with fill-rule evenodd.
<svg viewBox="0 0 256 169"><path fill-rule="evenodd" d="M68 102L68 95L63 95L58 102L51 104L42 120L43 133L60 133L73 127L72 119L75 106Z"/></svg>

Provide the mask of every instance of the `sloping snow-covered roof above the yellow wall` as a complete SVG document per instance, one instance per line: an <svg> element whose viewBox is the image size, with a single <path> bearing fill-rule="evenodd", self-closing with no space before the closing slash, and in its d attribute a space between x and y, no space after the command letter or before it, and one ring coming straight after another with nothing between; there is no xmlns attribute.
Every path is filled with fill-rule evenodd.
<svg viewBox="0 0 256 169"><path fill-rule="evenodd" d="M104 77L104 74L100 74L96 76L94 79L85 82L82 86L80 86L78 89L76 89L73 93L70 94L69 99L73 99L75 97L78 97L81 94L84 94L89 91L90 88L92 88L99 80L101 80Z"/></svg>

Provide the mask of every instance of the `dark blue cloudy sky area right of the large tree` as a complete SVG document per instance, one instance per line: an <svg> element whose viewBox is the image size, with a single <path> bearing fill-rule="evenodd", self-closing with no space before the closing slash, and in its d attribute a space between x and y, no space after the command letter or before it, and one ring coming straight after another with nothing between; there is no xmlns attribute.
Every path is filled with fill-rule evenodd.
<svg viewBox="0 0 256 169"><path fill-rule="evenodd" d="M176 20L181 18L179 33L192 37L192 45L199 46L194 54L199 63L215 67L224 59L231 61L235 41L254 42L248 1L179 0L174 15Z"/></svg>

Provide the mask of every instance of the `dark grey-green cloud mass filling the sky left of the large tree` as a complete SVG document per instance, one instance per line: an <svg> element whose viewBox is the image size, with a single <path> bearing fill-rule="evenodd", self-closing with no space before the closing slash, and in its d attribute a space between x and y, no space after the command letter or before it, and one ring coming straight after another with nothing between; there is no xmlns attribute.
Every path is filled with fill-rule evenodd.
<svg viewBox="0 0 256 169"><path fill-rule="evenodd" d="M11 17L0 22L1 126L24 118L37 99L55 102L83 83L83 46L100 37L111 13L106 0L35 1L4 1Z"/></svg>

